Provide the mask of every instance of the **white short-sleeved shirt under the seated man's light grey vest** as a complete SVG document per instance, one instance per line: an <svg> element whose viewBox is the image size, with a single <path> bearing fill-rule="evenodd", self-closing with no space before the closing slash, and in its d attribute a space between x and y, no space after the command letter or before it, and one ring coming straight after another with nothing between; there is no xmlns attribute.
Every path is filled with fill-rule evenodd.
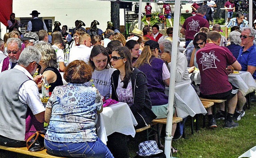
<svg viewBox="0 0 256 158"><path fill-rule="evenodd" d="M34 115L45 111L44 105L40 101L38 86L33 81L31 74L20 65L15 65L14 68L24 72L24 74L31 79L27 80L20 86L18 92L20 101L24 104L27 104Z"/></svg>

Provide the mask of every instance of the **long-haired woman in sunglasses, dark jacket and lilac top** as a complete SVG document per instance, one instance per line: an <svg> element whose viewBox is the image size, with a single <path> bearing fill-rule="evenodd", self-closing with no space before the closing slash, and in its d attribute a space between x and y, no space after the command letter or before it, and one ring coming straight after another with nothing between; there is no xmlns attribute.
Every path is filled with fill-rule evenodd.
<svg viewBox="0 0 256 158"><path fill-rule="evenodd" d="M151 123L156 115L151 110L151 99L147 90L146 75L133 68L131 53L127 47L118 47L112 52L111 63L115 70L111 76L112 99L126 102L139 129ZM108 148L115 158L128 158L125 135L113 133L108 136Z"/></svg>

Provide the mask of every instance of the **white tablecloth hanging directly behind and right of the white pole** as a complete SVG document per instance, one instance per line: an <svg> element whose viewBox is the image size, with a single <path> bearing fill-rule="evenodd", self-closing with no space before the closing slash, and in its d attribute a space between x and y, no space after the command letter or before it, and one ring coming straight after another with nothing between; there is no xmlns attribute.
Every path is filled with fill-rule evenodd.
<svg viewBox="0 0 256 158"><path fill-rule="evenodd" d="M169 87L165 89L166 95L169 93ZM185 118L188 115L207 113L196 91L190 83L175 83L175 103L178 117Z"/></svg>

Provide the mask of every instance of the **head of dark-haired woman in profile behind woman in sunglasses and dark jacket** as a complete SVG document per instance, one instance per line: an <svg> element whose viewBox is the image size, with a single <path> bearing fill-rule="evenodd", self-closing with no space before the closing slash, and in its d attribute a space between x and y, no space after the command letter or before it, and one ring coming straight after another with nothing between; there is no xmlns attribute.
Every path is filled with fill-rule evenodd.
<svg viewBox="0 0 256 158"><path fill-rule="evenodd" d="M129 40L126 42L125 47L127 47L131 53L131 59L133 64L140 56L140 45L135 40Z"/></svg>

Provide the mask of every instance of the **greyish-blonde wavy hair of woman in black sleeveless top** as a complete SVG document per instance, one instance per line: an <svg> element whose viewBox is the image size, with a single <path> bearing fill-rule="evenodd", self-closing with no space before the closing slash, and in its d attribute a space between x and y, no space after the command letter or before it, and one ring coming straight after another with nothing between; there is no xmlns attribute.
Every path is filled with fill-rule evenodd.
<svg viewBox="0 0 256 158"><path fill-rule="evenodd" d="M42 54L42 62L49 67L58 68L57 55L54 48L46 42L40 41L35 47Z"/></svg>

